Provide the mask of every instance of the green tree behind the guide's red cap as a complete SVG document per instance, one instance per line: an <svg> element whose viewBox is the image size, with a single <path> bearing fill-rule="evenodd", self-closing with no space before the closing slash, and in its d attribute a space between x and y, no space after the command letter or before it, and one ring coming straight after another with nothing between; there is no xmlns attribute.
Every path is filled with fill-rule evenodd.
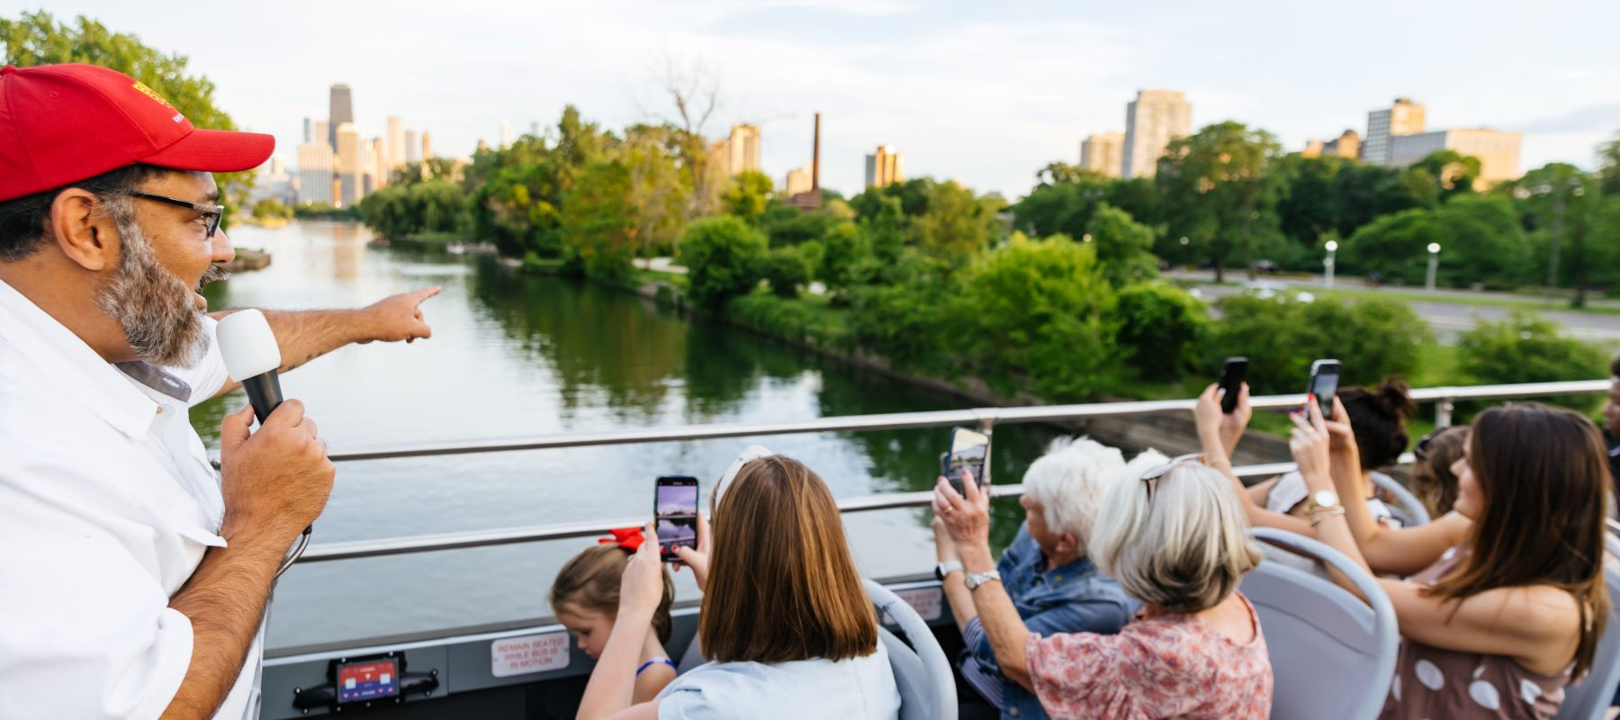
<svg viewBox="0 0 1620 720"><path fill-rule="evenodd" d="M204 75L191 75L185 55L165 55L133 34L113 32L83 15L71 23L57 23L47 11L23 13L16 19L0 18L0 45L5 49L0 65L100 65L146 83L191 120L191 125L237 130L230 115L214 104L214 81ZM253 177L253 170L215 175L227 204L246 204Z"/></svg>

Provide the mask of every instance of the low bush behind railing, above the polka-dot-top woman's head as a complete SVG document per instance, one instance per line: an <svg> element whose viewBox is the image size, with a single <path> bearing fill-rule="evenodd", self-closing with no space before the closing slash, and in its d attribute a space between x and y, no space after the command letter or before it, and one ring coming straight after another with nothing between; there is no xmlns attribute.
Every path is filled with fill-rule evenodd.
<svg viewBox="0 0 1620 720"><path fill-rule="evenodd" d="M1554 383L1594 379L1609 373L1604 349L1558 332L1558 323L1516 310L1498 321L1481 321L1456 339L1458 384ZM1599 397L1549 397L1565 407L1592 412ZM1458 404L1460 415L1473 415L1482 404Z"/></svg>

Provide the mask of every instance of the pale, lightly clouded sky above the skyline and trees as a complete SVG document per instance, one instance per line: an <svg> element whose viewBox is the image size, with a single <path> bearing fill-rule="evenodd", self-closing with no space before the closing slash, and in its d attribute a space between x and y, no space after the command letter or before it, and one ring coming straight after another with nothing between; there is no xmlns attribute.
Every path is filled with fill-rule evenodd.
<svg viewBox="0 0 1620 720"><path fill-rule="evenodd" d="M37 3L0 0L15 16ZM1520 170L1592 167L1620 131L1615 2L956 2L684 0L274 3L52 0L65 19L186 55L245 130L274 133L288 164L327 89L353 88L363 136L389 115L471 154L554 125L564 105L611 128L672 115L663 68L700 68L721 104L705 128L761 126L763 170L810 161L852 195L863 156L889 144L906 175L1017 198L1081 139L1124 130L1137 89L1179 89L1192 123L1238 120L1299 149L1396 96L1429 130L1524 133Z"/></svg>

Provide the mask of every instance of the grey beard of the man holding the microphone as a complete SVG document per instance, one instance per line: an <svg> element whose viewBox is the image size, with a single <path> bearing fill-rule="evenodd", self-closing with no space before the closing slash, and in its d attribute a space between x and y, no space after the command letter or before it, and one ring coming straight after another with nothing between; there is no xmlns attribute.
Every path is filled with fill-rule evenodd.
<svg viewBox="0 0 1620 720"><path fill-rule="evenodd" d="M194 366L211 341L202 329L202 313L191 300L191 287L157 263L139 224L131 219L117 221L117 225L122 237L118 271L96 294L96 305L118 321L141 360L164 366ZM225 277L230 272L211 264L198 289Z"/></svg>

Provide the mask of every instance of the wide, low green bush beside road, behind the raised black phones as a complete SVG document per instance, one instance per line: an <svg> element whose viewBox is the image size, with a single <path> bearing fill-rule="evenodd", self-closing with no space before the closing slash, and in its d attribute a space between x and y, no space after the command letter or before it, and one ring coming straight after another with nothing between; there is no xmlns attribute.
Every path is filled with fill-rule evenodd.
<svg viewBox="0 0 1620 720"><path fill-rule="evenodd" d="M1217 375L1226 357L1247 357L1254 394L1302 392L1317 358L1345 363L1341 386L1408 376L1418 366L1418 347L1434 339L1418 313L1392 300L1302 303L1230 295L1221 298L1220 313L1204 370Z"/></svg>

